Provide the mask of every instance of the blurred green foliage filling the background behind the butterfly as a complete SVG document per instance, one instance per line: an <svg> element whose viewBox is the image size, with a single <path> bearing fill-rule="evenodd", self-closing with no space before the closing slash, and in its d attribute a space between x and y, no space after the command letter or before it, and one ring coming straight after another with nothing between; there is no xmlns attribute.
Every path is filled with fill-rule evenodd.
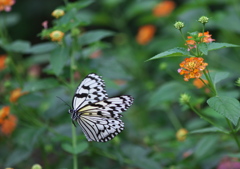
<svg viewBox="0 0 240 169"><path fill-rule="evenodd" d="M179 104L180 95L188 93L193 106L228 127L207 106L209 96L204 89L183 81L177 73L184 57L146 62L166 50L186 47L173 24L183 21L182 31L188 36L187 32L201 31L197 19L202 15L210 18L205 30L216 42L239 44L237 0L176 1L173 12L164 17L153 15L157 0L41 2L16 1L11 12L0 12L0 24L8 30L7 39L1 34L0 52L11 56L0 72L0 105L10 106L10 113L18 118L10 136L0 135L0 168L31 168L38 163L44 169L71 169L72 154L77 154L83 169L212 169L226 157L240 157L237 144L225 130L212 127ZM51 12L58 8L66 14L53 19ZM46 19L49 29L44 32L41 23ZM148 24L156 27L156 33L148 44L140 45L138 30ZM64 45L43 38L57 29L65 32ZM74 29L79 30L77 36ZM224 78L217 87L236 100L240 98L235 86L240 75L239 50L213 50L206 58L211 70L229 73L221 75ZM77 127L73 150L69 107L57 97L71 104L75 88L91 72L103 76L109 96L129 94L135 100L123 113L125 130L119 136L106 143L87 142ZM28 93L16 103L9 102L16 88ZM175 136L180 128L189 131L183 142Z"/></svg>

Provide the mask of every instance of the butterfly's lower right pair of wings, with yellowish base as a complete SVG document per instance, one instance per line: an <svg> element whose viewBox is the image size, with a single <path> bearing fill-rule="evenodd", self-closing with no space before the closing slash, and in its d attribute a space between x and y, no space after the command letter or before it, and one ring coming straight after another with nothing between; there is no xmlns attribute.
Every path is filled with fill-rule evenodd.
<svg viewBox="0 0 240 169"><path fill-rule="evenodd" d="M121 113L132 103L133 98L124 95L86 105L79 109L81 116L77 122L88 141L109 141L124 129Z"/></svg>

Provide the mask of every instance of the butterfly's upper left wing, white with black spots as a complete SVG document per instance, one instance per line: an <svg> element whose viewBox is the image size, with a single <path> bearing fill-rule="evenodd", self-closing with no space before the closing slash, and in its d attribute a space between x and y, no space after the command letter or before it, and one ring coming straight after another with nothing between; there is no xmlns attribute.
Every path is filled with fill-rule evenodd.
<svg viewBox="0 0 240 169"><path fill-rule="evenodd" d="M79 110L87 104L107 99L104 81L100 76L91 73L78 86L72 100L74 110Z"/></svg>

